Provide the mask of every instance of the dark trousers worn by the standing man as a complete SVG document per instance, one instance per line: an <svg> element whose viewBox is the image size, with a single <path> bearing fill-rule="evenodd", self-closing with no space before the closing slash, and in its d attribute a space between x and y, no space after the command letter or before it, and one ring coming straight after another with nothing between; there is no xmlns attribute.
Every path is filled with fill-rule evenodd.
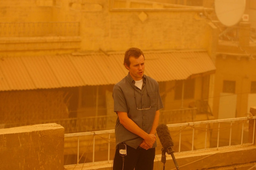
<svg viewBox="0 0 256 170"><path fill-rule="evenodd" d="M124 169L123 159L119 155L119 149L116 149L116 154L113 162L113 170L153 170L154 158L156 149L134 149L126 146L127 156L124 156Z"/></svg>

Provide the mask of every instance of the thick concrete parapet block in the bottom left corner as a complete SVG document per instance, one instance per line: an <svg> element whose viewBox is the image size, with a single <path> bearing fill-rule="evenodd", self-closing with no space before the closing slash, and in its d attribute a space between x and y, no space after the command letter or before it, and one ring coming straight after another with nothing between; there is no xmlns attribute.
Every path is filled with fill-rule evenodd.
<svg viewBox="0 0 256 170"><path fill-rule="evenodd" d="M64 127L37 124L0 129L0 170L63 170Z"/></svg>

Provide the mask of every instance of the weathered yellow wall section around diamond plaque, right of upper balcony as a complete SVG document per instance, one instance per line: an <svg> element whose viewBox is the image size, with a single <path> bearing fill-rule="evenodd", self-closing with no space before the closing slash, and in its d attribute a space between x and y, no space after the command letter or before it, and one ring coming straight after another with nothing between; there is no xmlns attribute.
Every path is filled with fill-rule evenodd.
<svg viewBox="0 0 256 170"><path fill-rule="evenodd" d="M82 13L83 14L83 13ZM145 15L142 22L140 15ZM184 26L185 25L185 26ZM131 46L145 50L205 49L206 23L196 12L110 12L84 14L82 50L124 51Z"/></svg>

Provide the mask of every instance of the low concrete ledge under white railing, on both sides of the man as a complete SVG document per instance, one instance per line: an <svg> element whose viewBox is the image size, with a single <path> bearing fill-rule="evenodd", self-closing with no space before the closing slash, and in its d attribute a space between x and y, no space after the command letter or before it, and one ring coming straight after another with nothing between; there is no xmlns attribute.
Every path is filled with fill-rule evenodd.
<svg viewBox="0 0 256 170"><path fill-rule="evenodd" d="M180 170L248 170L256 163L255 145L234 146L185 153L174 153ZM125 160L124 160L125 161ZM112 170L113 162L86 163L65 166L66 170ZM163 169L161 155L155 157L154 170ZM166 170L176 170L171 155L166 154Z"/></svg>

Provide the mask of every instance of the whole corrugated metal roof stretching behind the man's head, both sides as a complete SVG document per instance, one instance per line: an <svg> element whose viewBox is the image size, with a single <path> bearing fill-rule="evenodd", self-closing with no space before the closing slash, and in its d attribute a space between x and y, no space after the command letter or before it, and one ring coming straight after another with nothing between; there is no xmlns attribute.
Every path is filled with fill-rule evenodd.
<svg viewBox="0 0 256 170"><path fill-rule="evenodd" d="M184 80L216 68L206 52L145 52L145 74L157 81ZM128 71L124 53L0 59L0 91L110 85Z"/></svg>

